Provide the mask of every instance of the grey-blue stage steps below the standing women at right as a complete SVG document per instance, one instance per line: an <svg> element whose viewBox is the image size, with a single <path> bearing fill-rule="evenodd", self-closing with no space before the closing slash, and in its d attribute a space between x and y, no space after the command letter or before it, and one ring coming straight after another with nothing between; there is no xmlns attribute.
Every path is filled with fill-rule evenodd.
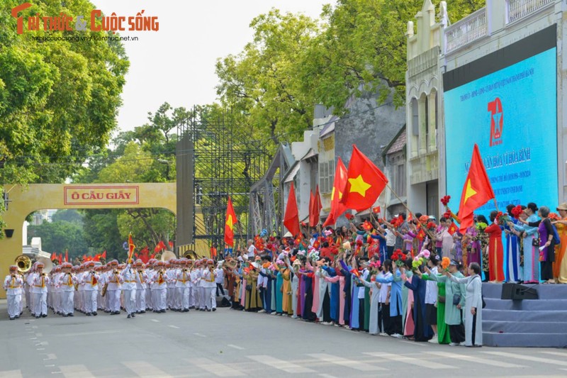
<svg viewBox="0 0 567 378"><path fill-rule="evenodd" d="M526 285L539 299L500 299L502 284L483 284L483 344L493 347L567 347L567 285Z"/></svg>

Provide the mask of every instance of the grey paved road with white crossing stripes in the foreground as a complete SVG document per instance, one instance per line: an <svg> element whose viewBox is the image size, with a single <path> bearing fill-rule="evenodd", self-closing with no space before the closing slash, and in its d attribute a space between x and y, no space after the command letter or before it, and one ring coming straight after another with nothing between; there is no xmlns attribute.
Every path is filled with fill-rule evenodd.
<svg viewBox="0 0 567 378"><path fill-rule="evenodd" d="M567 350L413 343L219 308L9 321L1 377L566 377Z"/></svg>

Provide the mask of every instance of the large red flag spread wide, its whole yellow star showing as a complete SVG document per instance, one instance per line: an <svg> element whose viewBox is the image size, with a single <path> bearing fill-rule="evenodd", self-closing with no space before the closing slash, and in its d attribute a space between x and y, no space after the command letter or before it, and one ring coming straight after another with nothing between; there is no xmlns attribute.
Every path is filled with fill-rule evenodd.
<svg viewBox="0 0 567 378"><path fill-rule="evenodd" d="M352 145L347 184L344 187L342 204L347 209L362 211L374 205L388 184L388 179L356 145Z"/></svg>

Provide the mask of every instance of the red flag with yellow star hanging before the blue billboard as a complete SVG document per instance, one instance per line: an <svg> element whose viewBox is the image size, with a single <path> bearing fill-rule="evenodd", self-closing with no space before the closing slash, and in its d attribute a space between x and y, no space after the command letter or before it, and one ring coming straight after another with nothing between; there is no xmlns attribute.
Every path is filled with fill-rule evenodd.
<svg viewBox="0 0 567 378"><path fill-rule="evenodd" d="M473 212L494 198L494 191L492 185L490 185L488 174L486 174L481 152L478 151L478 145L475 144L471 167L468 168L459 206L461 233L464 233L468 227L473 226Z"/></svg>

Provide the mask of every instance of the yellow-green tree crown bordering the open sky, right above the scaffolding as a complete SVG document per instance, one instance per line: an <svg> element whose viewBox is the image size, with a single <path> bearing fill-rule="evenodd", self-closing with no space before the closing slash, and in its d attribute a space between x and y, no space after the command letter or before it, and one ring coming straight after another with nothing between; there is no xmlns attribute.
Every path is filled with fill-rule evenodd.
<svg viewBox="0 0 567 378"><path fill-rule="evenodd" d="M313 121L313 96L302 90L298 61L319 29L307 16L276 9L254 18L250 27L254 40L240 54L217 61L217 93L249 140L269 142L274 152Z"/></svg>

